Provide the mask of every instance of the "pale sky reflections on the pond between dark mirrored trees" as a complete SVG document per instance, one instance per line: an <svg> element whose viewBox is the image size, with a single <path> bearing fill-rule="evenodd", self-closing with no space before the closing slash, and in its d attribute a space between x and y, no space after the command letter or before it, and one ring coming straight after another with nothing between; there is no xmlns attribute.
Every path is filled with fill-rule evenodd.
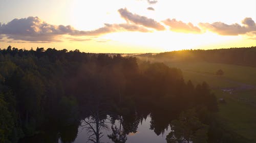
<svg viewBox="0 0 256 143"><path fill-rule="evenodd" d="M136 133L129 133L127 135L126 143L166 143L165 137L170 132L170 127L168 130L164 132L164 134L160 134L157 136L153 130L150 129L150 121L151 117L147 116L146 120L142 121L138 126L138 130ZM119 121L116 121L116 125L119 126ZM108 130L102 130L104 136L101 138L101 141L104 143L112 143L112 140L108 138L108 134L112 133L111 124L109 125ZM79 126L77 138L75 139L74 143L84 143L87 142L88 134L86 129L82 130L82 127ZM91 143L91 141L88 141Z"/></svg>

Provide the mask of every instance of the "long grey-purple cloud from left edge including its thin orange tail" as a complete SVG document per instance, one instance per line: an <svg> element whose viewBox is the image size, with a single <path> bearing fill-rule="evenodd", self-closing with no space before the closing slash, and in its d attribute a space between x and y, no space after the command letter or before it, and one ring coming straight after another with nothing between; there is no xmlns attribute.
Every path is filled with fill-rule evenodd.
<svg viewBox="0 0 256 143"><path fill-rule="evenodd" d="M129 23L105 24L103 27L93 31L78 31L70 25L52 25L42 21L38 17L28 17L13 19L7 24L0 24L0 39L6 37L12 40L53 42L60 41L58 37L62 35L97 36L119 31L151 32L143 26Z"/></svg>

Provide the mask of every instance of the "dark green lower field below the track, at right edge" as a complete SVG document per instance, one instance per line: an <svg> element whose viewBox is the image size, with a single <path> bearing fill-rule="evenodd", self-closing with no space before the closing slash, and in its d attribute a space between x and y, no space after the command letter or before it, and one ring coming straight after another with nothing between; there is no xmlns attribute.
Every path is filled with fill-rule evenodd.
<svg viewBox="0 0 256 143"><path fill-rule="evenodd" d="M256 142L256 106L251 105L240 98L253 99L254 91L240 91L239 93L223 93L220 90L214 91L217 98L224 98L226 104L219 104L218 115L230 129L236 131L248 139Z"/></svg>

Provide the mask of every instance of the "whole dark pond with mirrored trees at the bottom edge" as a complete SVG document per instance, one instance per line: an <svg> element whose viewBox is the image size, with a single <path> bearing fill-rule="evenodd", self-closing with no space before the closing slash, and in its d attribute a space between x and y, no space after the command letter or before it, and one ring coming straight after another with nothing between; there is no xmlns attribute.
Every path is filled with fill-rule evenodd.
<svg viewBox="0 0 256 143"><path fill-rule="evenodd" d="M109 102L97 100L90 103L80 108L83 112L76 123L65 126L51 122L41 129L41 133L22 139L20 143L166 143L169 124L176 118L176 113L159 106L120 102L113 107L103 104Z"/></svg>

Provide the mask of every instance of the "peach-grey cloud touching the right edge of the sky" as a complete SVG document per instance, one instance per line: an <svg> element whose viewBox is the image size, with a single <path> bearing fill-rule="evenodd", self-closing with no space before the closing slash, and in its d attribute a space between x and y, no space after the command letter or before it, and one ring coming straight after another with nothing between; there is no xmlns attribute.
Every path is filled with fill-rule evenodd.
<svg viewBox="0 0 256 143"><path fill-rule="evenodd" d="M205 30L218 33L219 35L241 35L256 31L255 22L251 18L242 20L242 24L234 23L231 25L223 22L199 23L199 26ZM255 34L255 33L254 33Z"/></svg>

